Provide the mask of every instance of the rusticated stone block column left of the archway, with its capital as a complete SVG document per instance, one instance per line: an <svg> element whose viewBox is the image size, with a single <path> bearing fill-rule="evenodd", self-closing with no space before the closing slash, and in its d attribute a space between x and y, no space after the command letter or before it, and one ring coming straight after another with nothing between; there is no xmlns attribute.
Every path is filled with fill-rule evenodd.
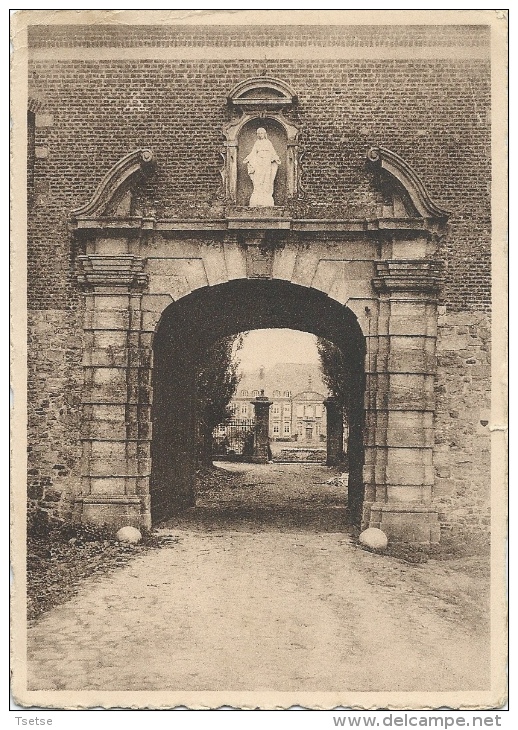
<svg viewBox="0 0 518 730"><path fill-rule="evenodd" d="M150 527L151 337L142 332L144 261L131 254L90 254L78 263L86 312L76 519Z"/></svg>

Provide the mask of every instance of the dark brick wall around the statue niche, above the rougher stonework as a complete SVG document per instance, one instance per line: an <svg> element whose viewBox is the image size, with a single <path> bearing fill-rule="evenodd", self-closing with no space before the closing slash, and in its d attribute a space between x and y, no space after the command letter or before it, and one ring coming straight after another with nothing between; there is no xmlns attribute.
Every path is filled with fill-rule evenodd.
<svg viewBox="0 0 518 730"><path fill-rule="evenodd" d="M224 29L219 30L223 38ZM432 28L426 36L418 28L413 36L410 28L389 28L385 35L371 31L370 41L376 46L396 41L404 45L413 39L419 45L426 36L432 45L452 43L454 30L443 28L439 33ZM176 32L176 42L186 46L201 32L189 29L191 35L182 31L182 36L178 29L156 29L158 34L166 31L169 43ZM31 34L48 45L51 41L42 38L48 32L38 27ZM116 45L121 41L113 36L121 32L81 27L71 40L63 28L52 29L58 45L64 39L68 45L102 45L108 42L103 38ZM276 32L268 29L272 37ZM311 28L304 29L298 42L316 43L322 40L322 29L319 32L315 36ZM484 28L456 32L464 46L486 41ZM246 31L239 33L243 40ZM286 42L294 33L291 28ZM97 40L86 41L84 34L94 34ZM353 43L355 34L367 43L365 28L340 29L331 36L336 42ZM227 36L218 43L231 43L232 38L237 43L235 29L234 36ZM141 40L145 38L144 34ZM134 37L127 42L136 41ZM259 42L260 36L255 38ZM447 259L444 303L456 311L489 306L489 63L475 59L297 59L268 60L266 66L262 60L33 61L31 93L42 100L53 126L36 129L36 145L47 156L36 160L39 202L31 215L29 270L44 276L39 282L33 279L31 305L53 306L58 300L58 306L69 304L71 290L64 286L70 264L66 214L85 202L110 166L132 149L151 147L157 158L156 175L140 201L144 212L179 217L214 217L221 212L226 97L238 81L265 68L291 84L299 96L291 116L301 125L305 197L292 206L292 214L375 216L380 199L373 173L366 169L365 151L372 143L389 147L414 166L432 198L452 212L441 252Z"/></svg>

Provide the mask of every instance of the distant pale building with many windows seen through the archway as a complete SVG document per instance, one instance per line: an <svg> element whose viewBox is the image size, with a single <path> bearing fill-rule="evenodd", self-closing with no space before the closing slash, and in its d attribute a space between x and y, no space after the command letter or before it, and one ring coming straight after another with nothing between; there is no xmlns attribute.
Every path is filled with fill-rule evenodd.
<svg viewBox="0 0 518 730"><path fill-rule="evenodd" d="M324 399L328 389L318 365L279 363L269 370L245 373L232 398L234 420L254 417L251 401L264 394L270 408L270 438L317 444L326 439Z"/></svg>

